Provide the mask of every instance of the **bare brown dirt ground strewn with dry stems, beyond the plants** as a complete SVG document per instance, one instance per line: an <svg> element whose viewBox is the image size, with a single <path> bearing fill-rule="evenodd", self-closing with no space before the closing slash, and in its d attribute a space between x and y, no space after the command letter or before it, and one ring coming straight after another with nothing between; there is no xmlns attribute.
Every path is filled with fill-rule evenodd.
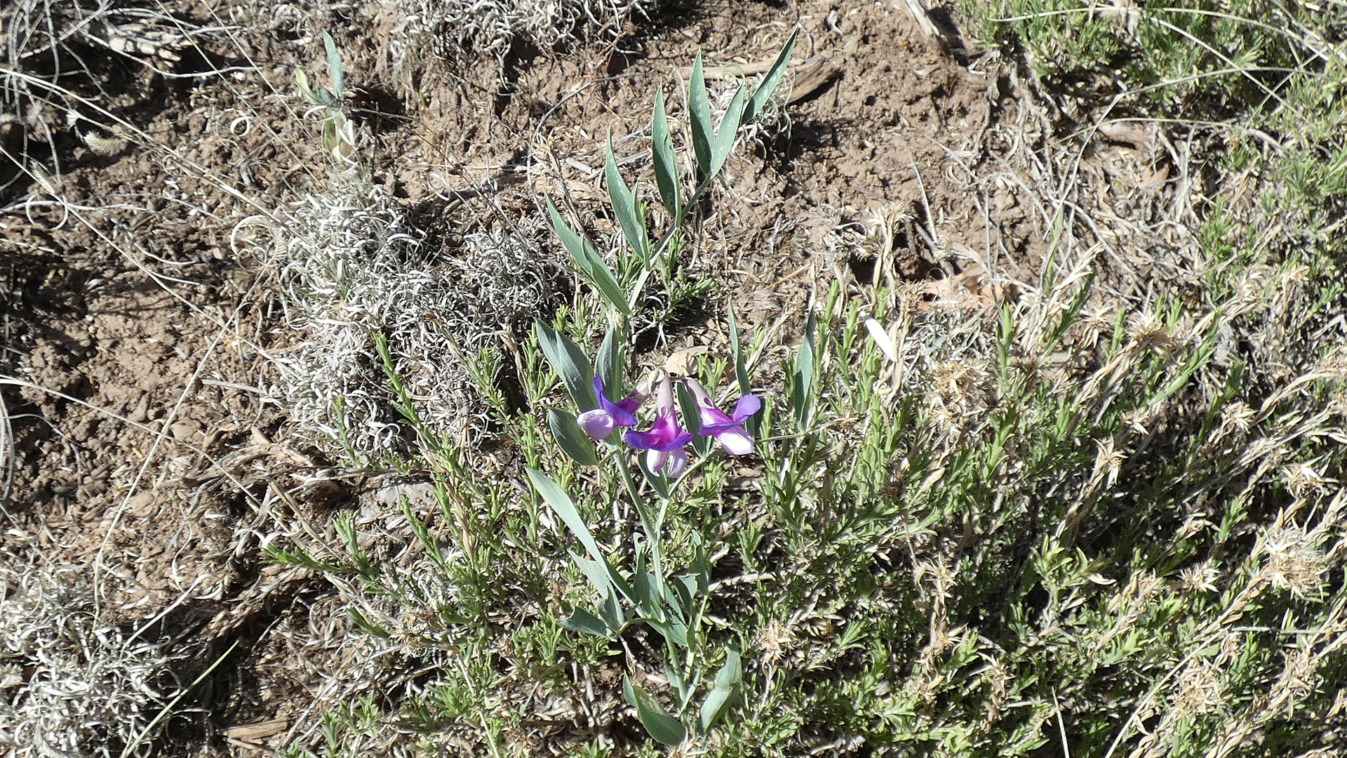
<svg viewBox="0 0 1347 758"><path fill-rule="evenodd" d="M294 441L272 359L304 336L283 328L268 262L238 244L247 220L327 181L291 73L325 80L323 30L374 182L445 255L474 231L539 229L544 196L603 239L607 129L620 158L648 150L655 89L676 92L698 51L717 94L727 77L714 74L770 61L796 26L784 113L731 159L691 262L741 318L789 332L838 278L855 297L909 282L975 308L989 270L1028 281L1045 251L1024 183L971 179L1045 139L1013 71L928 40L901 1L669 3L616 39L471 65L395 59L396 13L379 3L163 5L236 31L171 55L86 43L101 73L66 85L86 120L53 108L7 134L28 158L5 167L0 197L4 558L85 568L106 623L183 639L187 681L228 650L194 691L205 715L183 719L185 743L211 751L275 749L321 715L329 672L356 653L330 587L265 564L261 545L295 514L322 519L383 486L334 479L331 450ZM682 96L669 108L682 123ZM110 117L123 125L93 124Z"/></svg>

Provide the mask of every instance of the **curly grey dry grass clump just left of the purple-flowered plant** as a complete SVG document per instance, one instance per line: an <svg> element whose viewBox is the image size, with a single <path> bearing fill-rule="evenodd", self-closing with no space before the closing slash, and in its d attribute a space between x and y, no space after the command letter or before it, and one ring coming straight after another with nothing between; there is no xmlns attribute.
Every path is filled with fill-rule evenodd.
<svg viewBox="0 0 1347 758"><path fill-rule="evenodd" d="M292 429L366 464L405 450L396 378L432 440L480 440L488 418L471 370L551 302L547 262L494 232L436 258L377 190L310 196L280 239L286 321L304 334L282 360Z"/></svg>

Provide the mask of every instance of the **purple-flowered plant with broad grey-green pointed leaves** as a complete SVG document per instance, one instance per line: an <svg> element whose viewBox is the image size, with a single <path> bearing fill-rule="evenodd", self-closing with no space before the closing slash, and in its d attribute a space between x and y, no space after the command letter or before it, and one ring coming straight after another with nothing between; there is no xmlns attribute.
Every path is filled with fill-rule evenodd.
<svg viewBox="0 0 1347 758"><path fill-rule="evenodd" d="M687 221L725 166L740 128L753 120L780 84L793 45L792 34L761 85L752 93L741 86L714 129L702 59L696 59L687 96L692 138L692 161L687 173L698 179L691 192L687 192L680 175L664 94L656 93L651 161L660 205L667 213L667 227L657 239L652 239L647 208L617 170L609 140L605 166L609 201L628 244L625 252L638 264L629 282L620 282L594 245L571 229L560 212L548 204L558 237L570 252L575 270L601 298L607 318L594 361L560 330L541 321L535 324L539 348L575 409L574 413L550 410L548 426L558 446L574 463L597 468L599 482L620 482L616 491L625 495L640 519L640 531L632 534L630 564L620 571L594 540L566 490L543 471L528 468L533 488L583 548L583 554L571 553L571 558L597 593L593 610L575 608L560 626L607 639L617 639L633 624L645 624L659 633L664 641L664 677L671 708L665 708L629 676L624 677L622 691L645 730L665 745L680 745L690 735L706 735L742 678L737 643L713 645L703 623L710 597L710 540L694 531L690 565L682 572L671 571L665 560L665 515L679 499L680 483L699 465L699 461L691 460L688 448L694 448L703 460L715 455L711 440L718 441L727 455L752 453L750 422L762 409L762 401L750 391L742 345L733 322L731 359L740 397L733 401L730 413L721 410L711 392L695 378L672 376L657 370L632 382L625 347L630 341L632 316L643 302L643 290L651 274L671 270L671 259L686 245ZM651 411L645 411L648 403ZM709 665L711 661L718 664L714 674Z"/></svg>

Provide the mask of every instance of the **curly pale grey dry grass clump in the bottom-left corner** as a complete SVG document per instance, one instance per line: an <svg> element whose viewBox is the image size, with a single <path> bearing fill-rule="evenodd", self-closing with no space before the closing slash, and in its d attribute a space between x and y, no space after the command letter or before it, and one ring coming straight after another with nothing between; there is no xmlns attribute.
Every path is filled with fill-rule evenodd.
<svg viewBox="0 0 1347 758"><path fill-rule="evenodd" d="M133 742L131 754L144 755L163 730L156 716L176 688L172 653L100 627L96 607L81 569L0 565L5 755L121 755Z"/></svg>

